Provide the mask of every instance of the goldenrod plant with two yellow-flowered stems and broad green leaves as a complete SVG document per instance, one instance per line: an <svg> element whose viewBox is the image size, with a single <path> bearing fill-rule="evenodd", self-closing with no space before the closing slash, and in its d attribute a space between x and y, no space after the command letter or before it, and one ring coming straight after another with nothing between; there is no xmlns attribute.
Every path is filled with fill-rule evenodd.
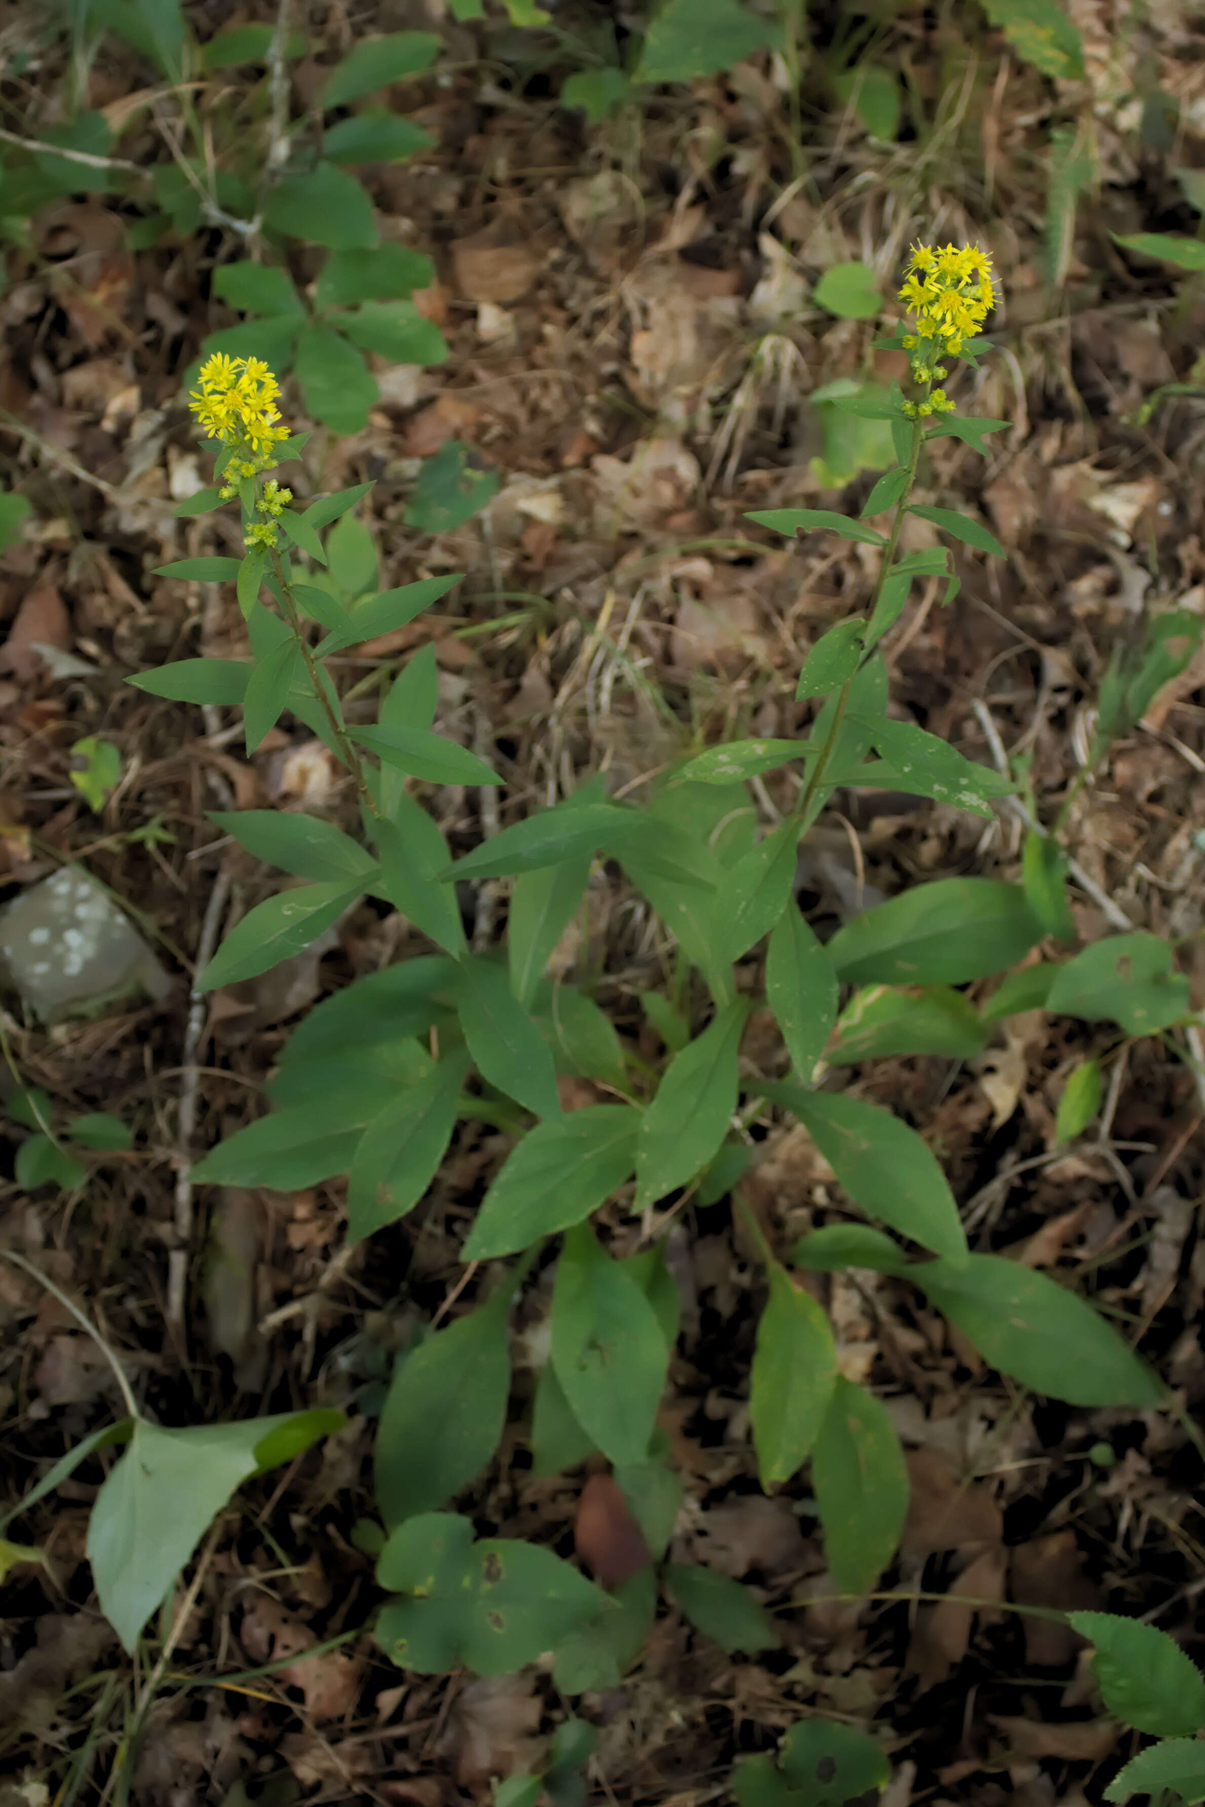
<svg viewBox="0 0 1205 1807"><path fill-rule="evenodd" d="M773 1621L739 1583L665 1563L681 1489L658 1428L677 1339L667 1231L696 1205L732 1200L739 1209L755 1131L773 1119L808 1129L833 1169L840 1205L789 1250L771 1249L750 1220L764 1267L748 1375L752 1444L766 1489L799 1485L809 1464L836 1588L860 1596L891 1565L909 1503L907 1465L891 1413L873 1386L842 1372L827 1314L791 1269L873 1270L903 1297L914 1290L1019 1388L1080 1408L1142 1411L1165 1400L1156 1375L1086 1297L968 1245L923 1135L844 1090L840 1068L883 1053L967 1059L1006 1016L1042 1005L1106 1023L1102 1063L1133 1037L1158 1034L1180 1046L1196 1019L1172 950L1135 932L1068 958L1075 923L1066 862L1041 826L1019 880L916 884L853 916L826 943L795 898L800 838L838 786L912 791L988 822L1019 790L1019 779L887 712L882 640L914 580L938 578L947 602L957 591L948 549L901 551L907 517L970 551L1001 553L972 515L912 501L921 477L932 484L925 461L936 439L956 435L983 450L1004 425L957 412L945 387L954 385L956 361L976 369L990 351L979 332L995 302L990 262L976 246L916 246L901 300L909 318L876 343L907 352L909 392L896 383L840 401L876 410L898 464L878 477L856 519L809 508L752 517L788 537L838 533L880 555L865 607L802 661L797 696L815 703L809 726L793 739L697 750L641 804L611 799L602 777L589 779L459 858L416 786L484 788L500 777L479 752L435 732L434 645L405 661L376 708L363 688L343 699L331 667L332 654L416 620L457 578L354 602L334 596L322 582L329 529L338 531L372 484L302 506L293 493L302 479L284 484L276 475L300 457L305 435L282 421L273 370L231 352L201 370L191 407L217 446L215 482L177 513L237 504L244 551L184 558L161 575L233 584L248 656L182 660L130 681L181 703L242 707L248 750L278 717L300 719L345 770L358 828L347 833L300 811L215 815L251 855L300 882L233 925L199 988L266 972L365 896L392 905L410 927L408 947L423 950L316 1005L267 1081L271 1111L213 1147L191 1178L282 1191L343 1178L347 1238L356 1243L421 1203L457 1122L479 1119L509 1138L461 1250L466 1263L484 1265L475 1292L466 1292L473 1303L397 1362L376 1435L381 1523L365 1531L361 1547L379 1556L390 1596L376 1624L381 1646L412 1670L464 1662L490 1675L555 1650L562 1691L607 1686L640 1653L658 1581L726 1648L777 1643ZM883 515L887 531L871 524ZM1172 640L1156 622L1145 651L1120 656L1102 701L1097 764L1118 725L1133 723L1180 669ZM770 772L780 773L784 804L762 831L746 782ZM665 1044L652 1066L587 985L547 976L600 860L621 869L676 945L676 1001L649 1008ZM482 882L509 885L499 945L466 934ZM1042 943L1048 958L1030 961ZM780 1041L764 1052L759 1037L753 1064L743 1057L743 1032L759 999ZM565 1079L589 1081L598 1102L565 1109ZM1079 1091L1091 1102L1091 1086L1080 1082ZM1082 1100L1077 1108L1068 1133L1091 1117ZM593 1220L603 1211L609 1229L600 1234ZM614 1596L551 1550L477 1538L472 1520L450 1511L499 1447L511 1393L509 1314L538 1269L551 1269L551 1308L526 1431L531 1465L538 1475L598 1456L612 1465L656 1565ZM325 1424L307 1415L296 1435L307 1440ZM179 1451L161 1451L155 1438L168 1433L139 1424L134 1435L166 1475ZM276 1458L285 1431L266 1437L242 1428L222 1498ZM117 1473L101 1493L108 1507ZM125 1476L123 1485L135 1484L132 1467ZM157 1565L135 1605L116 1606L112 1574L125 1554L114 1545L112 1511L101 1514L101 1531L92 1540L101 1599L130 1641L170 1576ZM193 1543L181 1534L172 1561L184 1561Z"/></svg>

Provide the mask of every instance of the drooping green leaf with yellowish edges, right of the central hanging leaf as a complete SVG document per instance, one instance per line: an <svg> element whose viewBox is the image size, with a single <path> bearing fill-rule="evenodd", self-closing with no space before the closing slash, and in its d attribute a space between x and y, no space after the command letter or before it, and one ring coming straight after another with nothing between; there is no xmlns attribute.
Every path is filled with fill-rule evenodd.
<svg viewBox="0 0 1205 1807"><path fill-rule="evenodd" d="M753 1451L764 1491L788 1482L811 1455L835 1384L836 1344L827 1317L771 1261L750 1373Z"/></svg>

